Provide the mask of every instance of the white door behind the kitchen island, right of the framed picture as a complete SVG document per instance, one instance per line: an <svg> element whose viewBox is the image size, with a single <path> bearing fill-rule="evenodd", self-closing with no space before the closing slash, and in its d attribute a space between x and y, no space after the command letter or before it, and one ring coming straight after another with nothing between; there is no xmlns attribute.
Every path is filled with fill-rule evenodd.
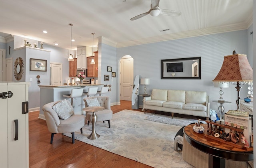
<svg viewBox="0 0 256 168"><path fill-rule="evenodd" d="M51 85L62 85L62 63L50 63Z"/></svg>

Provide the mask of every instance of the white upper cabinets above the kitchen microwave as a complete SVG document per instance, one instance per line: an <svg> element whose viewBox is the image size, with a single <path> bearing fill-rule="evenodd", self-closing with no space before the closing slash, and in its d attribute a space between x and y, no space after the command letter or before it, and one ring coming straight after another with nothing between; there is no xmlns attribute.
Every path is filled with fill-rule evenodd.
<svg viewBox="0 0 256 168"><path fill-rule="evenodd" d="M92 56L92 48L88 46L77 48L77 69L86 69L86 57Z"/></svg>

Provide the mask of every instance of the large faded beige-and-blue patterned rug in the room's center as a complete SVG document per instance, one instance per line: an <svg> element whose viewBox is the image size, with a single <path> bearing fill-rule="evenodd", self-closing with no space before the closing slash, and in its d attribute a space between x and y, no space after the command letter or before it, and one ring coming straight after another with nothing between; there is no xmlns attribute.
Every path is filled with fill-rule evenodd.
<svg viewBox="0 0 256 168"><path fill-rule="evenodd" d="M148 115L123 110L113 115L111 128L107 122L96 123L100 138L87 138L92 132L90 124L83 127L83 134L80 130L75 132L75 139L154 168L193 168L182 159L182 151L177 152L173 147L181 126L145 120Z"/></svg>

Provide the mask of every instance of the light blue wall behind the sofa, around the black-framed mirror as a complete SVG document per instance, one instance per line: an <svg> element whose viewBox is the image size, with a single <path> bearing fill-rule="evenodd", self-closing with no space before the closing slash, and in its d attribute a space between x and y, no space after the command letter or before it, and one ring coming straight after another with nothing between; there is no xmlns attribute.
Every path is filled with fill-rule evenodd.
<svg viewBox="0 0 256 168"><path fill-rule="evenodd" d="M237 53L248 53L248 30L169 40L164 42L149 43L117 49L117 60L124 55L131 55L134 58L134 77L138 74L141 77L150 78L150 85L147 92L152 89L176 89L206 91L210 97L212 109L218 108L219 88L214 88L212 80L218 74L224 56L232 55L232 51ZM174 59L186 57L201 57L202 79L161 79L161 59ZM248 55L252 59L252 55ZM236 109L237 92L233 85L224 90L224 99L232 104L225 104L226 109ZM118 89L119 92L119 89ZM144 92L140 85L140 93ZM246 97L247 85L240 92L240 97ZM120 93L118 94L120 95ZM140 97L140 105L142 105Z"/></svg>

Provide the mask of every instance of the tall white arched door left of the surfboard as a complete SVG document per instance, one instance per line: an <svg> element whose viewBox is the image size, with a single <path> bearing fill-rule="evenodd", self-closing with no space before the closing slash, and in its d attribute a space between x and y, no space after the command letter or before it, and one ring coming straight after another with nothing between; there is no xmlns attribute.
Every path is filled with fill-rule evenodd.
<svg viewBox="0 0 256 168"><path fill-rule="evenodd" d="M120 62L120 100L132 100L133 58L122 58Z"/></svg>

